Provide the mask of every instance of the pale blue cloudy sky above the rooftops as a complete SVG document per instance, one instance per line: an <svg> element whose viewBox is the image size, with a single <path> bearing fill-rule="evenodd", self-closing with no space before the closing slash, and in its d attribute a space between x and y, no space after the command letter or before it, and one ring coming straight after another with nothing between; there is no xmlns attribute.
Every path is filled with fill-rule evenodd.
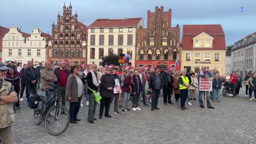
<svg viewBox="0 0 256 144"><path fill-rule="evenodd" d="M86 26L100 18L142 17L146 28L147 11L164 6L164 11L172 9L171 26L179 24L180 39L183 25L221 24L227 46L256 31L256 0L0 0L0 26L15 26L29 34L38 27L51 34L64 2L66 6L71 2L73 15L77 11Z"/></svg>

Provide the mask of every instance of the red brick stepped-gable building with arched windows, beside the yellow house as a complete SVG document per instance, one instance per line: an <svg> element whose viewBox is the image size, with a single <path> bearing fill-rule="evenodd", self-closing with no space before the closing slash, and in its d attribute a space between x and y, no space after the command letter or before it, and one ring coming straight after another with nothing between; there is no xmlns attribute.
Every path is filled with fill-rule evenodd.
<svg viewBox="0 0 256 144"><path fill-rule="evenodd" d="M147 28L137 33L136 66L174 67L180 60L180 27L171 27L172 10L148 11Z"/></svg>

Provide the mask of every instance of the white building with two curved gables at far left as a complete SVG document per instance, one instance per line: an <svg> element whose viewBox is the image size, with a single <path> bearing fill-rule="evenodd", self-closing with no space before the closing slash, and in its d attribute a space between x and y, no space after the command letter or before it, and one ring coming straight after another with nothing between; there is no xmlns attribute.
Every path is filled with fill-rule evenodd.
<svg viewBox="0 0 256 144"><path fill-rule="evenodd" d="M42 33L37 27L31 34L23 33L16 27L11 27L10 31L3 37L3 61L16 60L17 63L28 63L34 60L34 65L38 62L46 61L46 39L48 34Z"/></svg>

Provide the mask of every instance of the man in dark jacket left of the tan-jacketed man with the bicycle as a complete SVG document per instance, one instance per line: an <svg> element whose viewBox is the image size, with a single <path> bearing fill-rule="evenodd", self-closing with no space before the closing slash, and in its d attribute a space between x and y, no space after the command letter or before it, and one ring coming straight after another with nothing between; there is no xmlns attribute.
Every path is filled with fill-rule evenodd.
<svg viewBox="0 0 256 144"><path fill-rule="evenodd" d="M33 67L33 62L28 62L28 68L24 70L24 77L26 79L26 95L27 101L29 99L30 90L33 90L33 94L37 94L37 81L39 79L39 75L37 74L37 70Z"/></svg>

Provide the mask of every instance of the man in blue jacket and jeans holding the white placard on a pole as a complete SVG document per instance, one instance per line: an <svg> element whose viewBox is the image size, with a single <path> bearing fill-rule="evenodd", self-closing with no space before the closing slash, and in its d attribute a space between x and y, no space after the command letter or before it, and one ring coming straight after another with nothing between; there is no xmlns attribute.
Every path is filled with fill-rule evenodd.
<svg viewBox="0 0 256 144"><path fill-rule="evenodd" d="M201 67L201 70L198 72L197 76L198 76L198 82L200 82L199 79L201 77L209 78L209 77L212 77L212 74L209 71L206 71L206 68L203 66L203 67ZM198 89L199 89L199 105L200 105L201 108L204 108L203 97L204 97L205 92L200 91L199 86L198 86ZM210 92L207 91L206 95L207 95L207 107L211 108L211 109L214 109L214 107L212 107L212 105L210 103Z"/></svg>

